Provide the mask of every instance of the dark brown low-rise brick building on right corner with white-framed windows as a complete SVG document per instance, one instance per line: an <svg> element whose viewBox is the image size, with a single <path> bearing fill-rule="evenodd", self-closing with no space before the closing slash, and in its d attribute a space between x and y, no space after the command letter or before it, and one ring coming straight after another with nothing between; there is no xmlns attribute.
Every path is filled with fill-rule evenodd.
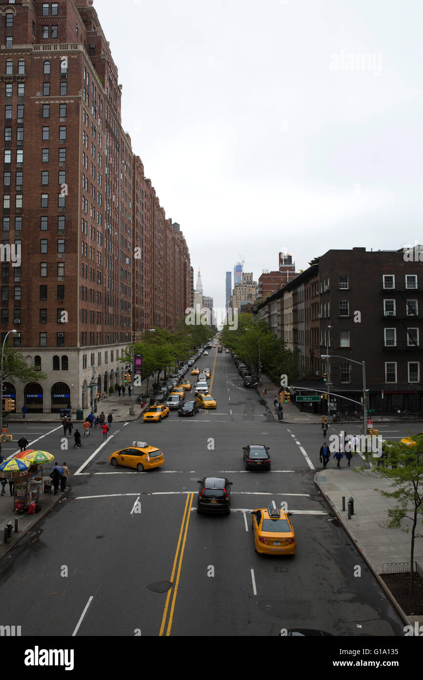
<svg viewBox="0 0 423 680"><path fill-rule="evenodd" d="M364 360L370 408L392 413L423 407L422 305L418 260L409 261L403 250L353 248L327 251L261 303L257 313L295 352L303 388L326 391L328 367L320 354L328 347L329 354L342 357L331 360L331 392L360 402L362 367L348 360ZM280 330L271 323L275 306L273 314L283 319ZM320 410L319 404L307 407ZM334 407L353 405L341 396Z"/></svg>

